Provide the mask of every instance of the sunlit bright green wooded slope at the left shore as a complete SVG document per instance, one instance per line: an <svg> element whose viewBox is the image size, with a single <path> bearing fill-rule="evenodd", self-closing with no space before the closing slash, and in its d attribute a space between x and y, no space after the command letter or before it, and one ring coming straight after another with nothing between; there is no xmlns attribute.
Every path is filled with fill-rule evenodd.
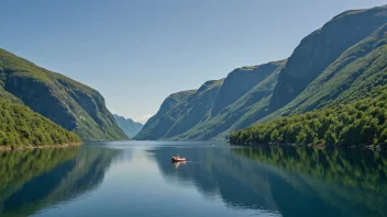
<svg viewBox="0 0 387 217"><path fill-rule="evenodd" d="M79 137L27 106L0 99L0 147L79 142Z"/></svg>

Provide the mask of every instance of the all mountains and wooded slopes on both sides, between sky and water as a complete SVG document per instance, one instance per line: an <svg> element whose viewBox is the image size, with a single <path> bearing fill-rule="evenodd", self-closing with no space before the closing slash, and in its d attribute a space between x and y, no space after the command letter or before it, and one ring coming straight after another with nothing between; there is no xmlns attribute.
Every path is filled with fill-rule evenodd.
<svg viewBox="0 0 387 217"><path fill-rule="evenodd" d="M386 83L386 5L338 14L286 59L173 93L144 126L111 114L97 90L0 49L0 145L130 138L383 145Z"/></svg>

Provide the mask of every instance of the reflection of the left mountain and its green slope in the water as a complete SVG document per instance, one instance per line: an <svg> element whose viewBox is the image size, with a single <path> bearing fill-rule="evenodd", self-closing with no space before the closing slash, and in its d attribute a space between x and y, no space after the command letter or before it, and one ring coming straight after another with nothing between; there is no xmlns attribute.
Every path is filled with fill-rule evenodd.
<svg viewBox="0 0 387 217"><path fill-rule="evenodd" d="M37 150L36 150L37 151ZM27 216L34 214L47 205L71 199L84 194L102 181L104 171L108 169L112 159L118 155L118 150L88 148L88 149L42 149L38 155L29 155L31 168L38 168L33 175L27 176L21 182L19 167L14 167L9 172L18 173L13 180L1 190L0 203L1 216ZM55 152L53 155L52 152ZM70 153L69 153L70 152ZM8 152L9 155L21 155L19 161L9 163L23 167L26 161L23 152ZM42 156L46 156L43 157ZM42 161L41 159L45 159ZM62 160L58 160L62 159ZM47 164L52 167L47 167ZM42 168L40 167L42 165ZM7 168L7 167L5 167ZM2 184L2 181L0 181ZM13 184L15 183L15 184Z"/></svg>

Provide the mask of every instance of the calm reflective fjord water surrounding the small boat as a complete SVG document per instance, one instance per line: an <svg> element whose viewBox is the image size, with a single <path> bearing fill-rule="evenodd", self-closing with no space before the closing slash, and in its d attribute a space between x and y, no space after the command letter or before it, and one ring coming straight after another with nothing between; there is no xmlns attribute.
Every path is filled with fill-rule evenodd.
<svg viewBox="0 0 387 217"><path fill-rule="evenodd" d="M98 141L0 156L0 216L387 216L383 151Z"/></svg>

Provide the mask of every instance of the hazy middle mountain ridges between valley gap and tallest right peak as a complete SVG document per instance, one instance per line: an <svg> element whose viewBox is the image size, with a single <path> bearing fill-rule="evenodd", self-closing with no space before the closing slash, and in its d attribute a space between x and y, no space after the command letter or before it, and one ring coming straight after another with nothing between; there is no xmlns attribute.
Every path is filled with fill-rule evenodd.
<svg viewBox="0 0 387 217"><path fill-rule="evenodd" d="M258 119L253 111L267 105L278 71L285 62L242 67L230 72L225 79L207 81L196 92L180 98L168 111L163 103L159 112L145 124L135 139L206 140L226 135L235 127L233 125L248 126L248 122ZM165 102L169 101L170 96ZM252 114L255 116L252 117ZM150 137L151 134L154 136Z"/></svg>

